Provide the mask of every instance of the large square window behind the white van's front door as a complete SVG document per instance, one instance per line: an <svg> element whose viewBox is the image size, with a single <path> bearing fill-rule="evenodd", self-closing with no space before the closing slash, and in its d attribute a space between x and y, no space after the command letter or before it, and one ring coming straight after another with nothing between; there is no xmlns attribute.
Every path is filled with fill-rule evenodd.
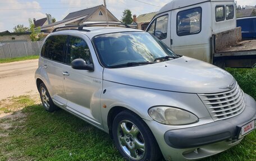
<svg viewBox="0 0 256 161"><path fill-rule="evenodd" d="M196 7L177 13L177 35L198 34L201 31L202 8Z"/></svg>

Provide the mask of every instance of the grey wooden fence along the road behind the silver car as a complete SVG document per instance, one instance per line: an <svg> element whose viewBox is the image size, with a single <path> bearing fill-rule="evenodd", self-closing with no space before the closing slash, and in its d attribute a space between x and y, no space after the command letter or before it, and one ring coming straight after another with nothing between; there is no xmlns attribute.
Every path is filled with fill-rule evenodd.
<svg viewBox="0 0 256 161"><path fill-rule="evenodd" d="M43 41L0 44L0 59L39 56Z"/></svg>

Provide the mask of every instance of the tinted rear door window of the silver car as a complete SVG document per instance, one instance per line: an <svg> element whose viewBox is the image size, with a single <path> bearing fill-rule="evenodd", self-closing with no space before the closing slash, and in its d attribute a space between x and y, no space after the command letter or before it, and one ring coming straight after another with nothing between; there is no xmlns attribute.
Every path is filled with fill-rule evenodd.
<svg viewBox="0 0 256 161"><path fill-rule="evenodd" d="M66 35L51 36L51 43L48 47L47 58L57 62L63 62Z"/></svg>

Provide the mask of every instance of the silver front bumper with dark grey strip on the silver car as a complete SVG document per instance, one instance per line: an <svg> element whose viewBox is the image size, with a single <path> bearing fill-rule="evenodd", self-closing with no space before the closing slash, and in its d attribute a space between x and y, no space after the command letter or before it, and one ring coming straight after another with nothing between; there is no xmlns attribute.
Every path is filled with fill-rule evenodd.
<svg viewBox="0 0 256 161"><path fill-rule="evenodd" d="M152 130L166 160L202 159L238 144L241 126L256 119L256 103L245 94L246 107L238 116L204 125L167 130L155 128L155 121L145 121ZM154 123L153 123L154 122ZM163 129L159 131L159 129Z"/></svg>

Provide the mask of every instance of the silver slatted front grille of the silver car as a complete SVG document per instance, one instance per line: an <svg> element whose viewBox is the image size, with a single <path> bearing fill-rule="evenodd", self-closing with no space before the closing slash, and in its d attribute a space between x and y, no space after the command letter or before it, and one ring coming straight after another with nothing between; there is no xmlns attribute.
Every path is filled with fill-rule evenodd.
<svg viewBox="0 0 256 161"><path fill-rule="evenodd" d="M222 93L198 95L214 121L237 116L245 108L244 92L237 83L233 89Z"/></svg>

